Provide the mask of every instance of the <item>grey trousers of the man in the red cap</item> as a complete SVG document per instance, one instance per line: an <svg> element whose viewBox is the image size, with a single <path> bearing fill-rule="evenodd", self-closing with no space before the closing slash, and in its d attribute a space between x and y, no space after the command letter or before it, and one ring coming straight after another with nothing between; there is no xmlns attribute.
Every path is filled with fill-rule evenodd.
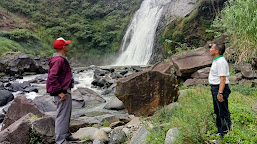
<svg viewBox="0 0 257 144"><path fill-rule="evenodd" d="M54 101L57 104L57 115L55 119L55 135L57 144L67 144L66 138L71 136L69 131L70 117L72 109L71 94L66 93L66 100L60 101L59 96L54 96Z"/></svg>

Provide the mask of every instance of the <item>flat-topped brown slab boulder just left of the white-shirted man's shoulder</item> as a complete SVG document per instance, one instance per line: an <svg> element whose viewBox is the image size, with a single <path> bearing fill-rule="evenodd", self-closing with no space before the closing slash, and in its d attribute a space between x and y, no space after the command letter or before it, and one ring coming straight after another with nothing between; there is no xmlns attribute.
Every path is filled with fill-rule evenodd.
<svg viewBox="0 0 257 144"><path fill-rule="evenodd" d="M172 58L177 76L191 76L197 70L211 66L213 58L209 54L209 49L197 49L193 53Z"/></svg>

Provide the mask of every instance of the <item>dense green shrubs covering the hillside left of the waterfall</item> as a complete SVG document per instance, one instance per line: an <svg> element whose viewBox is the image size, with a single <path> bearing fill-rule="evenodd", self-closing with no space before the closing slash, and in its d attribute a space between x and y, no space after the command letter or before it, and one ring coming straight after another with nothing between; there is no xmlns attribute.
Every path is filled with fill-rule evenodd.
<svg viewBox="0 0 257 144"><path fill-rule="evenodd" d="M1 0L0 7L29 18L27 25L35 31L15 30L0 36L19 42L22 52L32 53L25 49L34 49L33 55L48 55L54 39L62 36L72 40L73 57L99 59L119 50L122 33L139 3L140 0Z"/></svg>

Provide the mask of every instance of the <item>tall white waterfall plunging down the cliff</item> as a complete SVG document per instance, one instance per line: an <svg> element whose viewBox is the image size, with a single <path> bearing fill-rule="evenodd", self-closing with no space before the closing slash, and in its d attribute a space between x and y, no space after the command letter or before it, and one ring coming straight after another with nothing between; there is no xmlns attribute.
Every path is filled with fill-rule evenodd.
<svg viewBox="0 0 257 144"><path fill-rule="evenodd" d="M144 0L123 37L114 65L146 65L152 55L155 32L164 6L171 0Z"/></svg>

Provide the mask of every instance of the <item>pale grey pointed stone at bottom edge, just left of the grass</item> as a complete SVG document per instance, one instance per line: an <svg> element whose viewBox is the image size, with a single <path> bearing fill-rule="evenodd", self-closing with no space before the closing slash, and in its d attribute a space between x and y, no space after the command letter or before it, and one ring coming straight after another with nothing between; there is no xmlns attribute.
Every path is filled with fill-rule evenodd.
<svg viewBox="0 0 257 144"><path fill-rule="evenodd" d="M144 126L142 126L132 137L130 144L146 144L147 135L150 134Z"/></svg>

